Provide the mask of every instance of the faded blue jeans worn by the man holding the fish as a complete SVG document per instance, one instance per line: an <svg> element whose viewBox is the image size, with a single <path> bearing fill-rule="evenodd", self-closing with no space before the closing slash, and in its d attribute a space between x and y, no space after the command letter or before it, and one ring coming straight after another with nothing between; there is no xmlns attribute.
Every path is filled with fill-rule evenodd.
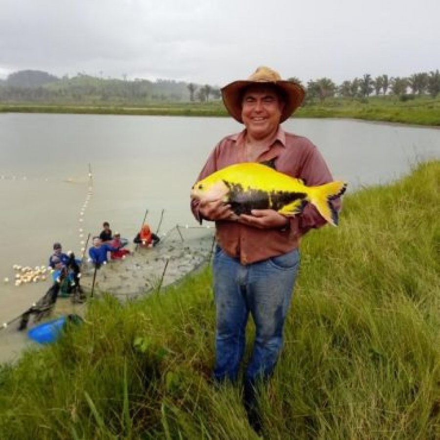
<svg viewBox="0 0 440 440"><path fill-rule="evenodd" d="M246 380L268 378L283 345L283 326L299 268L299 251L242 265L216 247L213 263L216 304L214 378L236 381L249 312L256 335Z"/></svg>

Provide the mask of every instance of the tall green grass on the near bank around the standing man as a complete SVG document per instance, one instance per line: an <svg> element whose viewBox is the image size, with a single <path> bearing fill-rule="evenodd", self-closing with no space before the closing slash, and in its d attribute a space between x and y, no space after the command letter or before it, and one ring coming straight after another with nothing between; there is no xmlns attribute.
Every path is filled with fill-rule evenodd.
<svg viewBox="0 0 440 440"><path fill-rule="evenodd" d="M440 161L420 165L348 195L340 227L303 240L265 437L436 438L439 185ZM2 368L1 437L253 438L240 389L209 380L210 285L206 268L136 303L91 302L81 328Z"/></svg>

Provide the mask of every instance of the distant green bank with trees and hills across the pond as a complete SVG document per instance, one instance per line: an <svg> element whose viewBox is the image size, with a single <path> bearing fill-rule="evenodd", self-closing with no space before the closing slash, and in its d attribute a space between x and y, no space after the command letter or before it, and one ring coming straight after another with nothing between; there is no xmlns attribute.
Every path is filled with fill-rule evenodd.
<svg viewBox="0 0 440 440"><path fill-rule="evenodd" d="M299 78L291 81L301 83ZM440 72L408 78L370 74L337 86L330 78L304 85L296 117L344 117L440 126ZM182 81L57 78L23 70L0 81L0 111L223 116L219 88Z"/></svg>

